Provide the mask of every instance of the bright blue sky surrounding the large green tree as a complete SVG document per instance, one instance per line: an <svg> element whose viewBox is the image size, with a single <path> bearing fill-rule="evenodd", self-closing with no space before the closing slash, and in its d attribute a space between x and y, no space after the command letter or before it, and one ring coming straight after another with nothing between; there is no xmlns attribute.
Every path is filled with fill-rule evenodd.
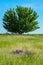
<svg viewBox="0 0 43 65"><path fill-rule="evenodd" d="M7 32L3 28L3 15L9 8L16 8L16 6L32 7L39 15L38 22L40 29L30 32L36 34L43 34L43 0L0 0L0 33Z"/></svg>

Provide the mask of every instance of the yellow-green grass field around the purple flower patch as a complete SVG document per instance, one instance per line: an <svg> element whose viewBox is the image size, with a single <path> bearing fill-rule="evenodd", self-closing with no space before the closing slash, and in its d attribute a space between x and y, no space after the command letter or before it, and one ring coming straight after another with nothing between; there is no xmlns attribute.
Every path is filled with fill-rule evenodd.
<svg viewBox="0 0 43 65"><path fill-rule="evenodd" d="M28 50L28 54L11 54ZM43 34L0 35L0 65L43 65Z"/></svg>

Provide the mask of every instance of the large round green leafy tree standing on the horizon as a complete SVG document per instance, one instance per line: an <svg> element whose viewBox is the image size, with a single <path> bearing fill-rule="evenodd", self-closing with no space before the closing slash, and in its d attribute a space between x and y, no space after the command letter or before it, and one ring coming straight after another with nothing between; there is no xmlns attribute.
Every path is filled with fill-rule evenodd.
<svg viewBox="0 0 43 65"><path fill-rule="evenodd" d="M17 6L9 9L3 16L3 27L11 33L22 34L39 28L38 15L32 8Z"/></svg>

